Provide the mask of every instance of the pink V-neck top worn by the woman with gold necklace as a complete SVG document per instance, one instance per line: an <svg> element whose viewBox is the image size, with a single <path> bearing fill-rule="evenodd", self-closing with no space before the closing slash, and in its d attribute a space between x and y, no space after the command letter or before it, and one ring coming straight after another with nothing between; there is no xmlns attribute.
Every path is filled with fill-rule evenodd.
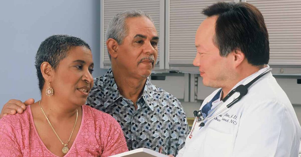
<svg viewBox="0 0 301 157"><path fill-rule="evenodd" d="M126 151L119 123L109 114L83 105L79 132L65 157L110 156ZM56 157L39 137L30 106L22 114L0 120L0 157L12 156Z"/></svg>

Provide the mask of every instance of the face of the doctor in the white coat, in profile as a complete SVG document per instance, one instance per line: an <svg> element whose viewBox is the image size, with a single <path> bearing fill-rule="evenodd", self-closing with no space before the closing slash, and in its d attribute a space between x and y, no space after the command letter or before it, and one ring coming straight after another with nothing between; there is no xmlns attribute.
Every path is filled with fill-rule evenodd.
<svg viewBox="0 0 301 157"><path fill-rule="evenodd" d="M219 49L213 43L216 19L217 16L206 18L197 29L197 55L193 61L193 65L199 67L203 84L213 88L222 87L231 75L230 57L221 57Z"/></svg>

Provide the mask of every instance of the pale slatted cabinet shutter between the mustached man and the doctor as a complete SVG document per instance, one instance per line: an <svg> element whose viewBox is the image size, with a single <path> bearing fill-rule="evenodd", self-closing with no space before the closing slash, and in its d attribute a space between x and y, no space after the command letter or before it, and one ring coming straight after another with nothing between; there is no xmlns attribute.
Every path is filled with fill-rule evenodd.
<svg viewBox="0 0 301 157"><path fill-rule="evenodd" d="M201 12L218 0L170 0L169 66L193 66L196 55L195 33L206 19ZM223 0L223 2L234 2ZM168 46L168 45L166 45Z"/></svg>

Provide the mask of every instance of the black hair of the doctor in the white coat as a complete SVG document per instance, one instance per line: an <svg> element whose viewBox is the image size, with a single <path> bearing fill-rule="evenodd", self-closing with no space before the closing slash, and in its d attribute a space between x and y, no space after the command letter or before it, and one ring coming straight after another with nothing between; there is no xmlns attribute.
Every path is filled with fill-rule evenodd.
<svg viewBox="0 0 301 157"><path fill-rule="evenodd" d="M213 43L220 56L241 50L251 65L268 64L268 31L260 11L251 4L218 2L202 12L207 17L218 16Z"/></svg>

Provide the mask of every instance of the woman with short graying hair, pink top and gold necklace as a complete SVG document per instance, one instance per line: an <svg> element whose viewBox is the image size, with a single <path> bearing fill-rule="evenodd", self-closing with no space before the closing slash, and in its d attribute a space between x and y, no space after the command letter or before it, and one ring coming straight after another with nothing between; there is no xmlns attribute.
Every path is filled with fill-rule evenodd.
<svg viewBox="0 0 301 157"><path fill-rule="evenodd" d="M119 123L85 104L93 86L90 46L53 35L36 54L41 100L0 120L4 156L110 156L128 151Z"/></svg>

